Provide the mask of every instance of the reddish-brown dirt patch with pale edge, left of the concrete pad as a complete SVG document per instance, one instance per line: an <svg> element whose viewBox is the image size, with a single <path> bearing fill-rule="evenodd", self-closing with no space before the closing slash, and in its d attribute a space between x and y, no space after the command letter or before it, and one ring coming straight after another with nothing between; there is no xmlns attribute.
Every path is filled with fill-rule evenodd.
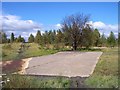
<svg viewBox="0 0 120 90"><path fill-rule="evenodd" d="M3 61L0 62L0 67L2 68L2 73L25 73L25 69L28 67L29 61L32 58L14 60L14 61Z"/></svg>

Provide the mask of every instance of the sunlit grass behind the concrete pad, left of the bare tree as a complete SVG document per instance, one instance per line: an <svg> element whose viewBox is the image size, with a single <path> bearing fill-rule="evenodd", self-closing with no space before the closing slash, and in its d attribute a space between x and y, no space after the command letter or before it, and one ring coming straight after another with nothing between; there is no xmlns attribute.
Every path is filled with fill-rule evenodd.
<svg viewBox="0 0 120 90"><path fill-rule="evenodd" d="M2 56L2 60L20 60L22 58L54 54L59 51L56 49L40 48L40 46L35 43L26 43L23 53L20 55L18 54L20 45L21 43L1 44L2 53L0 53L0 56Z"/></svg>

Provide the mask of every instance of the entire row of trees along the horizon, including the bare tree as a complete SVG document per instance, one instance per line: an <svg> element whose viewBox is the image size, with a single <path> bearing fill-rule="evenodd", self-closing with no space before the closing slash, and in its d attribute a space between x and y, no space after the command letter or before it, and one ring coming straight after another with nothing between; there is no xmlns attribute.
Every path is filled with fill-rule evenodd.
<svg viewBox="0 0 120 90"><path fill-rule="evenodd" d="M120 36L116 38L112 31L108 37L104 33L101 35L98 29L93 29L90 24L87 24L88 21L89 16L84 14L67 16L61 23L61 29L45 31L42 34L38 30L35 36L30 34L28 42L38 43L42 46L62 43L65 46L72 46L74 50L78 47L117 46ZM14 33L11 33L10 39L8 39L5 32L0 34L2 37L0 43L25 42L24 37L21 37L21 35L15 38Z"/></svg>

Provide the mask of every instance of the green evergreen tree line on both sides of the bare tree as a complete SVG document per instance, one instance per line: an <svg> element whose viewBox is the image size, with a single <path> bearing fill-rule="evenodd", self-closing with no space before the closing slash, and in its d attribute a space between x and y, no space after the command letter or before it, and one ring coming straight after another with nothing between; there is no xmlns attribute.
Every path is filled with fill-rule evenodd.
<svg viewBox="0 0 120 90"><path fill-rule="evenodd" d="M14 33L11 33L10 38L7 38L6 33L0 33L2 36L2 40L0 43L14 43L14 42L25 42L24 37L15 37ZM120 35L120 34L119 34ZM41 34L38 30L37 34L34 36L30 34L28 37L28 43L38 43L40 45L46 44L59 44L64 43L66 46L71 46L72 41L70 37L66 38L66 33L59 30L50 30L45 31L45 33ZM119 36L120 38L120 36ZM87 31L84 29L82 40L79 44L80 47L90 47L90 46L111 46L114 47L118 43L118 39L115 37L114 33L111 31L108 37L105 37L104 33L100 35L98 29L93 31Z"/></svg>

